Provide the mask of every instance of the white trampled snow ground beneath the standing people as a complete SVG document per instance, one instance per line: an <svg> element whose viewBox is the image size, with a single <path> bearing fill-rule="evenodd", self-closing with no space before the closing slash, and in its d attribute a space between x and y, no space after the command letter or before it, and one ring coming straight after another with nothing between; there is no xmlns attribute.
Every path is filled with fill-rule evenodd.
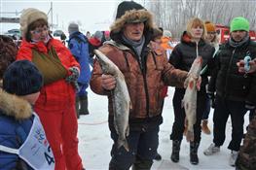
<svg viewBox="0 0 256 170"><path fill-rule="evenodd" d="M228 120L226 128L226 141L221 152L216 155L206 156L202 152L212 142L212 135L201 134L199 149L199 165L192 165L189 157L189 143L182 141L180 161L173 163L170 160L172 141L169 140L174 114L172 110L173 87L168 88L168 96L165 98L164 123L160 128L160 146L158 152L162 155L161 161L155 161L153 170L233 170L229 165L230 151L227 146L231 139L231 121ZM107 170L110 160L112 140L107 124L107 97L100 96L89 91L89 116L82 116L79 120L79 153L87 170ZM213 122L211 110L209 126L212 130ZM248 124L248 114L245 116L244 127Z"/></svg>

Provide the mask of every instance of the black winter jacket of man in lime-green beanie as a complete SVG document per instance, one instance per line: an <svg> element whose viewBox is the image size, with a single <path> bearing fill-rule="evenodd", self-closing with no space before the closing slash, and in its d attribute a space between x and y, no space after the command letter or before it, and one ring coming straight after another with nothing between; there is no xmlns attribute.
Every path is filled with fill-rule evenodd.
<svg viewBox="0 0 256 170"><path fill-rule="evenodd" d="M215 70L208 90L216 91L222 98L234 101L248 101L256 104L256 73L238 72L237 62L249 53L251 59L256 57L256 43L248 40L238 48L227 42L220 47L215 60Z"/></svg>

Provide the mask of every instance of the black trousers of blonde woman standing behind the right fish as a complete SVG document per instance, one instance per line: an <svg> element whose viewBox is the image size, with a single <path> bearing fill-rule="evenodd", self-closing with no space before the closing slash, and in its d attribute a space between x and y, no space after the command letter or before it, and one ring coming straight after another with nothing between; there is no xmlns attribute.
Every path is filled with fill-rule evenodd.
<svg viewBox="0 0 256 170"><path fill-rule="evenodd" d="M174 95L173 95L173 109L174 109L174 122L172 125L172 132L170 134L171 140L178 140L181 141L183 138L183 131L185 128L185 110L182 108L182 99L185 94L185 89L175 89ZM197 98L197 121L194 124L194 136L195 136L195 142L200 143L201 141L201 117L202 113L205 110L205 98L206 98L206 92L205 89L201 89L201 92L198 92L198 98Z"/></svg>

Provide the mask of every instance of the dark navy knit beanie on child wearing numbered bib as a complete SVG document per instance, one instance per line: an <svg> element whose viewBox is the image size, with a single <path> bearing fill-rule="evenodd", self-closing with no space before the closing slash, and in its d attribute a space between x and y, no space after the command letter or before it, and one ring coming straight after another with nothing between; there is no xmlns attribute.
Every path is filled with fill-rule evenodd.
<svg viewBox="0 0 256 170"><path fill-rule="evenodd" d="M7 68L3 76L3 89L11 94L27 95L38 92L43 76L28 60L18 60Z"/></svg>

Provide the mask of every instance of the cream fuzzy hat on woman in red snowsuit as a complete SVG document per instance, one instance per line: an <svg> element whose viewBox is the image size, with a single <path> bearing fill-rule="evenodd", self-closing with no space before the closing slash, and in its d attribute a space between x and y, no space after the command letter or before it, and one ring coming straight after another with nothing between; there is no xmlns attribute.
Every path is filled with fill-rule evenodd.
<svg viewBox="0 0 256 170"><path fill-rule="evenodd" d="M28 8L24 10L19 18L20 23L20 30L22 33L22 36L25 37L28 26L38 20L38 19L44 19L46 22L48 22L48 17L45 13L34 9L34 8Z"/></svg>

